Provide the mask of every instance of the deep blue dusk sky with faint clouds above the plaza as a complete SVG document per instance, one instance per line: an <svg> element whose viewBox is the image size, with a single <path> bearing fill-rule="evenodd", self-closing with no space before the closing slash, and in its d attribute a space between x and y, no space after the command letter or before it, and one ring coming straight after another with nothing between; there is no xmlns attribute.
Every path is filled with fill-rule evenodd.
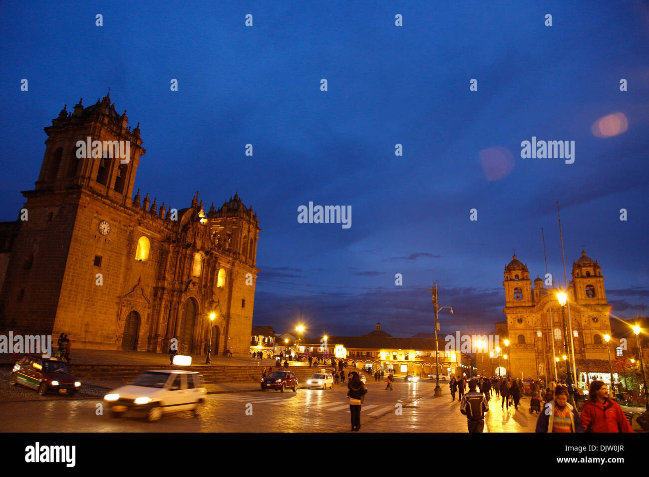
<svg viewBox="0 0 649 477"><path fill-rule="evenodd" d="M504 319L512 249L532 278L545 273L541 227L563 283L557 200L568 273L585 245L613 314L645 313L646 3L191 4L0 5L1 220L16 219L19 191L34 186L43 127L64 103L93 104L110 87L118 112L141 123L136 188L177 208L196 190L207 206L238 190L258 212L254 324L430 332L438 280L456 311L443 332L489 332ZM616 113L626 131L594 136ZM574 140L574 164L520 158L532 136ZM309 201L352 206L351 228L297 223Z"/></svg>

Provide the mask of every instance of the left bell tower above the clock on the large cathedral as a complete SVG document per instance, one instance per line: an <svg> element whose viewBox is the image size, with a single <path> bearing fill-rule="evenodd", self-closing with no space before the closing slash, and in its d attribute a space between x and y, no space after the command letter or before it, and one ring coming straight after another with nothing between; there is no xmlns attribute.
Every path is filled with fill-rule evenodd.
<svg viewBox="0 0 649 477"><path fill-rule="evenodd" d="M90 188L125 204L130 200L140 156L140 125L131 130L126 111L117 114L110 95L84 108L79 100L73 112L67 104L45 128L45 156L36 182L37 193Z"/></svg>

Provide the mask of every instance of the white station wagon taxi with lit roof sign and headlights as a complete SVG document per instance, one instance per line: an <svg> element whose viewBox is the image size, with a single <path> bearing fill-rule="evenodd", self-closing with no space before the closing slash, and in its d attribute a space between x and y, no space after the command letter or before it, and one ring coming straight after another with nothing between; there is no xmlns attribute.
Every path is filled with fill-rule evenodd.
<svg viewBox="0 0 649 477"><path fill-rule="evenodd" d="M192 411L197 416L206 395L199 373L158 369L140 374L133 384L110 391L104 400L113 417L134 412L152 422L178 411Z"/></svg>

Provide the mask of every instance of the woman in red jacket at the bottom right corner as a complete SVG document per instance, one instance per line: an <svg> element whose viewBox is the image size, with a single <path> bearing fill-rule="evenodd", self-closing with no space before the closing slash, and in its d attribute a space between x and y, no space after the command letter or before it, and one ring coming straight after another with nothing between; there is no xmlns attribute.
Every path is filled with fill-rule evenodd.
<svg viewBox="0 0 649 477"><path fill-rule="evenodd" d="M586 432L633 432L620 405L609 399L606 383L591 382L589 397L591 399L582 409L582 424Z"/></svg>

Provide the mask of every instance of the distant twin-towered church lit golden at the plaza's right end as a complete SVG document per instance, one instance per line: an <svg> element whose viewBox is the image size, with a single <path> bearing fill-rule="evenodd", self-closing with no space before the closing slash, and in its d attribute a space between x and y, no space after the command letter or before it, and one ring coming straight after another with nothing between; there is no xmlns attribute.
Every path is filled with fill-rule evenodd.
<svg viewBox="0 0 649 477"><path fill-rule="evenodd" d="M522 373L524 378L554 378L557 366L559 377L565 376L564 330L561 305L556 295L559 290L546 288L538 276L532 287L528 267L519 262L516 255L506 265L504 278L502 285L506 298L503 312L507 317L509 347L503 345L502 336L500 346L502 353L509 354L507 366L511 367L511 375L520 377ZM596 260L587 257L586 252L582 251L582 256L572 263L571 278L564 312L568 344L574 345L575 382L578 382L587 380L588 373L604 371L604 360L608 369L604 336L611 334L609 313L613 307L606 301L602 268ZM611 342L611 356L615 356L615 346ZM558 364L556 358L559 358Z"/></svg>

